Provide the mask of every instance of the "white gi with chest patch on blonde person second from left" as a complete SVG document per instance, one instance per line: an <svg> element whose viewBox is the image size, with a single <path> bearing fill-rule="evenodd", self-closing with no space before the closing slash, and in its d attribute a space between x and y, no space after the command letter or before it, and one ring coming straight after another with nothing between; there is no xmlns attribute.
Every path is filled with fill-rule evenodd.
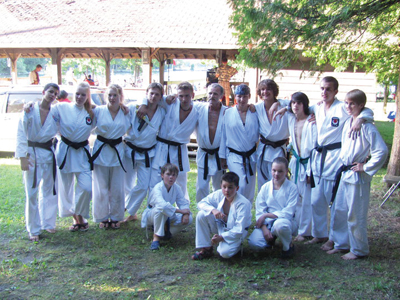
<svg viewBox="0 0 400 300"><path fill-rule="evenodd" d="M58 103L53 109L54 116L60 124L61 136L74 143L88 140L94 127L94 120L84 107L78 107L73 103ZM84 148L90 151L89 145ZM59 168L65 159L63 168L58 170L60 217L70 217L76 214L85 219L89 218L90 200L92 199L92 172L84 148L68 147L62 139L58 143L56 159Z"/></svg>

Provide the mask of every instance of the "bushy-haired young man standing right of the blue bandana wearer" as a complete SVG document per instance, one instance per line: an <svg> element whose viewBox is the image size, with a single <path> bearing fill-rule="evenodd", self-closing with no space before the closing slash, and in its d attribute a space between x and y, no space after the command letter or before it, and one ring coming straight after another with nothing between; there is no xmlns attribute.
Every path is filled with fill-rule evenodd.
<svg viewBox="0 0 400 300"><path fill-rule="evenodd" d="M256 112L260 130L260 144L257 149L257 182L258 190L262 185L272 179L272 161L277 157L286 157L286 144L289 138L288 116L272 120L269 109L278 103L276 97L279 87L271 79L262 80L257 87L257 94L263 102L257 103ZM284 106L279 104L279 109Z"/></svg>

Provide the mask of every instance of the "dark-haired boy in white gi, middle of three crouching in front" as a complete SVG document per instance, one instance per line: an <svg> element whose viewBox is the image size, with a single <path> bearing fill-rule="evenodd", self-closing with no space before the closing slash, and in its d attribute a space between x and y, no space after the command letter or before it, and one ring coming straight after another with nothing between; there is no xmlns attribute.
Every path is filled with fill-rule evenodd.
<svg viewBox="0 0 400 300"><path fill-rule="evenodd" d="M218 245L217 251L223 258L239 252L251 224L251 203L238 190L239 176L226 173L222 176L221 189L197 204L196 248L201 250L192 259L211 257L213 245Z"/></svg>

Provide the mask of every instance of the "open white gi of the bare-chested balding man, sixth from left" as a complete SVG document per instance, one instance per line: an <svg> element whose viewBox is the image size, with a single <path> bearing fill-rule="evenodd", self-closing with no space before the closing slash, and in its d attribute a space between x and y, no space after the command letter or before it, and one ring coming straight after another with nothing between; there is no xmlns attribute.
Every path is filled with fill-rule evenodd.
<svg viewBox="0 0 400 300"><path fill-rule="evenodd" d="M212 179L213 191L221 188L221 177L223 175L223 169L218 170L217 156L216 154L207 154L203 149L214 150L218 149L221 144L222 128L224 122L224 114L227 107L225 105L221 106L219 112L217 130L215 131L214 141L210 142L210 130L208 126L208 112L209 106L204 105L199 110L199 121L196 126L197 135L197 182L196 182L196 201L199 202L201 199L206 197L210 193L210 180ZM218 153L218 152L217 152ZM207 179L204 179L204 166L206 161L206 156L208 155L208 175ZM219 163L219 162L218 162Z"/></svg>

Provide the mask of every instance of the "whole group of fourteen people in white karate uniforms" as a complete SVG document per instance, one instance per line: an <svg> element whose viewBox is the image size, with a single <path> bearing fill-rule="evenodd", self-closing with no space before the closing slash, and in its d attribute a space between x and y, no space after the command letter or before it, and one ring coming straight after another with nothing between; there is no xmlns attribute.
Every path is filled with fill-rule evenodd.
<svg viewBox="0 0 400 300"><path fill-rule="evenodd" d="M162 239L192 223L187 144L196 132L200 250L192 259L211 257L214 245L224 258L240 251L252 223L256 176L250 248L270 248L279 238L283 258L293 256L294 241L324 243L329 254L346 252L344 259L365 257L370 182L388 150L362 91L341 102L334 77L320 86L322 103L309 107L301 92L278 100L279 87L270 79L257 87L262 101L250 105L250 88L241 84L237 105L228 109L219 84L208 87L203 103L193 102L188 82L168 97L152 83L141 106L124 105L122 88L111 84L108 104L97 107L87 83L78 85L75 103L56 105L59 88L46 85L42 101L25 108L18 128L30 239L38 241L41 230L55 232L57 207L61 217L73 217L70 231L86 231L93 199L93 220L102 229L118 229L137 220L148 196L141 225L153 230L151 249L158 250ZM90 152L91 132L97 139Z"/></svg>

